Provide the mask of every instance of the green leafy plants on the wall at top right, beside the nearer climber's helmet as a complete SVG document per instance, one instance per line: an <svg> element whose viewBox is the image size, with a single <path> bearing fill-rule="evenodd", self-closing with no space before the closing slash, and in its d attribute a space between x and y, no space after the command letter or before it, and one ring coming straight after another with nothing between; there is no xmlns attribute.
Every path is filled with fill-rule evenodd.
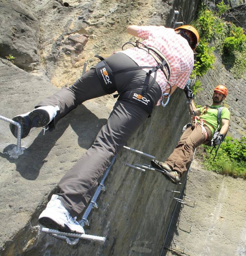
<svg viewBox="0 0 246 256"><path fill-rule="evenodd" d="M221 1L217 8L220 14L227 10L228 6ZM200 12L200 16L195 21L195 26L199 28L202 47L196 49L198 55L193 75L201 76L212 67L214 61L212 51L214 49L210 50L211 47L209 46L212 44L222 55L223 64L233 74L234 78L244 77L246 74L246 36L243 29L220 19L213 12L206 9ZM206 61L201 62L199 58Z"/></svg>

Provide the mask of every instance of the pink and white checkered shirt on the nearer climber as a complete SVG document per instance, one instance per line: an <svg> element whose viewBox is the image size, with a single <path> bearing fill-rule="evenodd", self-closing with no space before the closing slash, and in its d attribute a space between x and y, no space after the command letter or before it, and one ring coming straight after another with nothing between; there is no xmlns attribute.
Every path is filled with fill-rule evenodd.
<svg viewBox="0 0 246 256"><path fill-rule="evenodd" d="M158 49L168 60L171 66L171 77L169 82L173 87L175 84L184 89L192 68L194 66L194 53L186 39L177 35L172 28L164 26L142 26L139 27L138 36L144 41L143 44ZM155 59L142 49L137 47L129 48L122 53L129 56L139 66L157 65ZM144 69L149 71L149 69ZM154 74L151 74L154 76ZM163 72L158 69L156 82L159 84L162 93L165 92L167 80ZM167 86L168 88L168 86ZM161 104L161 99L156 105Z"/></svg>

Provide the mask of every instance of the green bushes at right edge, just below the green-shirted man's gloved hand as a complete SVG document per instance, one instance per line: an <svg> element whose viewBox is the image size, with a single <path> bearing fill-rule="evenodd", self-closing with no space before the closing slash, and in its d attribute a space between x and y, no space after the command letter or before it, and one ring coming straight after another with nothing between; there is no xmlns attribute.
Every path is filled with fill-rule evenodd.
<svg viewBox="0 0 246 256"><path fill-rule="evenodd" d="M214 160L215 153L210 153L211 147L203 145L203 148L206 151L206 156L203 159L205 168L217 173L246 179L246 137L242 137L241 140L226 137Z"/></svg>

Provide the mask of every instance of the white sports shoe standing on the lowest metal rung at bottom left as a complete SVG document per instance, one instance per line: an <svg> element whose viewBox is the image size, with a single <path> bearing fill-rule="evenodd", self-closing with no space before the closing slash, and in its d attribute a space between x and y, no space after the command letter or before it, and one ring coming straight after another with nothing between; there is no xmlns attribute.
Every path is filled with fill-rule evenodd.
<svg viewBox="0 0 246 256"><path fill-rule="evenodd" d="M58 195L52 195L50 202L40 214L39 223L46 228L56 229L62 232L77 232L84 234L83 227L72 218L71 214L63 206Z"/></svg>

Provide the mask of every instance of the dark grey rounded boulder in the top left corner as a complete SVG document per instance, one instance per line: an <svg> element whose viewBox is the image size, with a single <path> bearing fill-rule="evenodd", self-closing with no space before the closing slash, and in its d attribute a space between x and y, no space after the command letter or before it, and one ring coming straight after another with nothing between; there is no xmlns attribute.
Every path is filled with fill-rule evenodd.
<svg viewBox="0 0 246 256"><path fill-rule="evenodd" d="M39 22L30 8L18 0L0 1L0 56L11 54L19 68L40 68L38 44Z"/></svg>

